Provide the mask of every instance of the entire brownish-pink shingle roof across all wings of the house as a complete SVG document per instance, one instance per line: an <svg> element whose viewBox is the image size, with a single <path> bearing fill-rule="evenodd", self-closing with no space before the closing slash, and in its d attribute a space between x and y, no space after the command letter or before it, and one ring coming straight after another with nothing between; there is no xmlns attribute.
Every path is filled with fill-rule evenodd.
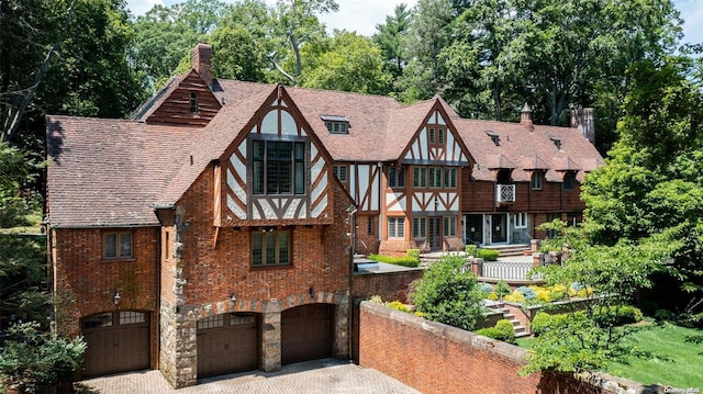
<svg viewBox="0 0 703 394"><path fill-rule="evenodd" d="M171 79L135 116L148 117L179 80ZM47 171L52 225L156 225L154 206L176 203L277 89L233 80L215 81L214 87L223 106L205 127L48 116L48 154L54 159ZM388 97L284 89L337 161L400 159L431 109L439 103L476 160L472 176L477 180L494 180L495 168L513 168L516 181L528 181L534 169L546 170L548 181L561 181L563 170L578 170L581 179L584 171L602 162L576 128L535 126L529 132L515 123L464 120L439 97L403 106ZM347 119L348 134L328 133L323 115ZM498 134L500 146L487 131Z"/></svg>

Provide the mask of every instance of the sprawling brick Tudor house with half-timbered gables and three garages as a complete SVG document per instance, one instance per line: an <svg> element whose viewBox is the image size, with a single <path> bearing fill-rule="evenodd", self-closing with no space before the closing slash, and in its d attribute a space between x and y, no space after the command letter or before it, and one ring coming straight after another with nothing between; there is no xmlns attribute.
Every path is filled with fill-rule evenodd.
<svg viewBox="0 0 703 394"><path fill-rule="evenodd" d="M213 79L211 50L130 120L46 119L56 326L85 336L85 376L348 358L355 252L527 243L580 221L602 161L588 111L465 120L439 97Z"/></svg>

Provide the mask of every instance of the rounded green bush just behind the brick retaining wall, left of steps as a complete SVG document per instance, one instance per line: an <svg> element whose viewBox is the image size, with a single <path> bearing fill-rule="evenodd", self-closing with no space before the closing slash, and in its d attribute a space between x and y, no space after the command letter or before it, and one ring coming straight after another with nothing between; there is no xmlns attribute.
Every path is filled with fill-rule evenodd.
<svg viewBox="0 0 703 394"><path fill-rule="evenodd" d="M473 329L483 312L477 278L461 256L444 255L429 266L412 294L424 317L462 329Z"/></svg>

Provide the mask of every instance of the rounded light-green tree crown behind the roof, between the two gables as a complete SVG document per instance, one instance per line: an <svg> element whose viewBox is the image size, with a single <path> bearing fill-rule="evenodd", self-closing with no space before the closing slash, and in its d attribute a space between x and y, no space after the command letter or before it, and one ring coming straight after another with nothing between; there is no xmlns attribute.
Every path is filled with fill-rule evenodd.
<svg viewBox="0 0 703 394"><path fill-rule="evenodd" d="M371 38L347 31L310 43L301 50L308 59L301 85L306 88L387 94L390 75L383 71L380 48Z"/></svg>

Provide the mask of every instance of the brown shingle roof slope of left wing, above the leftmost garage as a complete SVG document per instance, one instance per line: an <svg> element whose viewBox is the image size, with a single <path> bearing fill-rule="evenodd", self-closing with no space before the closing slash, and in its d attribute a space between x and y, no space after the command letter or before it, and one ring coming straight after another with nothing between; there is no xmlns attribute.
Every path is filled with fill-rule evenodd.
<svg viewBox="0 0 703 394"><path fill-rule="evenodd" d="M137 121L47 116L52 226L156 225L154 202L193 130Z"/></svg>

